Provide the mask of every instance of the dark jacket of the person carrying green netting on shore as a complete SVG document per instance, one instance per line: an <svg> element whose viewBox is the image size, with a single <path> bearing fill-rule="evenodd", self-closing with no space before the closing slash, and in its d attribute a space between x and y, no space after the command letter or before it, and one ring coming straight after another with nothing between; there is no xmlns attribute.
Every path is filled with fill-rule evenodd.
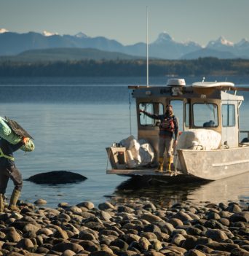
<svg viewBox="0 0 249 256"><path fill-rule="evenodd" d="M4 153L4 155L8 155L12 158L13 158L13 152L19 150L20 147L23 146L23 144L24 144L24 142L20 141L17 144L13 145L5 139L2 139L2 138L0 139L0 148L1 148L2 152ZM14 165L15 165L15 162L13 160L4 158L4 157L0 158L0 167L1 168L7 168L9 166L14 166Z"/></svg>

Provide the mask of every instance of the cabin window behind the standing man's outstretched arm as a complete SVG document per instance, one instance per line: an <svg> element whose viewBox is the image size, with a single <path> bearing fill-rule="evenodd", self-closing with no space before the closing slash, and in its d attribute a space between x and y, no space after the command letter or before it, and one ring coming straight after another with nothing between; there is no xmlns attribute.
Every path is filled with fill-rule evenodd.
<svg viewBox="0 0 249 256"><path fill-rule="evenodd" d="M155 115L163 115L164 113L162 103L140 103L139 109ZM143 113L140 114L139 119L141 125L155 126L159 122L159 120L148 117Z"/></svg>

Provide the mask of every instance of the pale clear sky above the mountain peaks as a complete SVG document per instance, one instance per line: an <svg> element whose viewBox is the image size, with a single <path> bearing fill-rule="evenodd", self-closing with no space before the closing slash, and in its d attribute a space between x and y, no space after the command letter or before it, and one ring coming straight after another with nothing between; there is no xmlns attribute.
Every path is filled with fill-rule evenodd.
<svg viewBox="0 0 249 256"><path fill-rule="evenodd" d="M224 36L249 39L249 0L0 0L0 28L105 36L128 45L167 32L177 42L205 46Z"/></svg>

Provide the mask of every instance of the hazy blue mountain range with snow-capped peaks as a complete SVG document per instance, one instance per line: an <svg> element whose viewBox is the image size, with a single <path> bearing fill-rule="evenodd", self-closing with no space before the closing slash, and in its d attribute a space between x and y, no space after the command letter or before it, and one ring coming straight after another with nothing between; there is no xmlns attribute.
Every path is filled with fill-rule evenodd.
<svg viewBox="0 0 249 256"><path fill-rule="evenodd" d="M44 50L48 48L92 48L96 50L122 53L111 58L144 58L146 43L124 45L103 36L90 37L84 33L74 36L43 34L28 32L18 34L0 28L0 56L18 55L29 50ZM196 42L176 42L166 32L159 34L157 40L149 44L149 57L161 59L196 59L200 57L249 58L249 41L242 39L238 43L229 42L223 36L210 41L205 47ZM104 57L105 58L105 57Z"/></svg>

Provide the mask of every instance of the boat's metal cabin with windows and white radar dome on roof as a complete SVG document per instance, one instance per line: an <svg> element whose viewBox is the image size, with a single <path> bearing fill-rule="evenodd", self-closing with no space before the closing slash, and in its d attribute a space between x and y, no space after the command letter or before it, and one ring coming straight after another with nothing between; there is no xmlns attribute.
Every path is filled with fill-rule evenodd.
<svg viewBox="0 0 249 256"><path fill-rule="evenodd" d="M221 134L220 147L238 147L238 109L244 98L229 90L233 86L231 82L186 86L184 79L170 79L164 87L130 86L136 101L138 139L147 139L154 149L158 148L159 122L141 114L139 109L162 115L167 104L171 104L179 131L210 129Z"/></svg>

